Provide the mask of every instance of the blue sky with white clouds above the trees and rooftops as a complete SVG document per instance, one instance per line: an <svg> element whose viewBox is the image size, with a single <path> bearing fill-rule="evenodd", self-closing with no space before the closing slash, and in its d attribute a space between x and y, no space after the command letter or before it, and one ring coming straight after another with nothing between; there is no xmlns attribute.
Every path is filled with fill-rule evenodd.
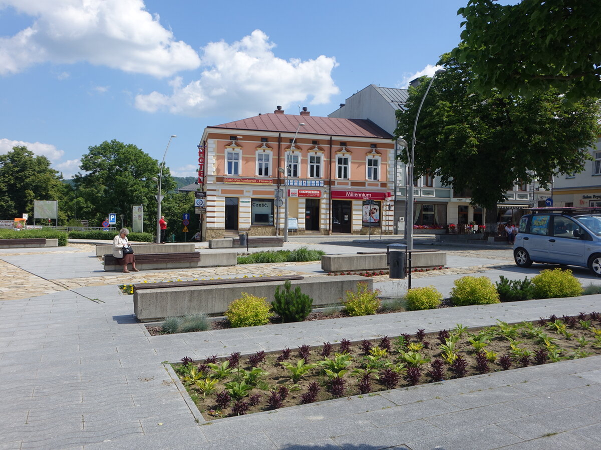
<svg viewBox="0 0 601 450"><path fill-rule="evenodd" d="M467 0L0 0L0 154L71 178L89 146L133 143L194 176L207 125L406 87L459 43ZM506 2L504 2L506 3Z"/></svg>

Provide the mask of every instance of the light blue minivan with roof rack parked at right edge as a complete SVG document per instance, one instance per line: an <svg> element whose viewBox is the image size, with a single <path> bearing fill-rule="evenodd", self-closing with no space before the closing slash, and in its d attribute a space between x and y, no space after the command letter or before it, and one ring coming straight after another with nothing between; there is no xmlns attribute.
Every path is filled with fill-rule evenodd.
<svg viewBox="0 0 601 450"><path fill-rule="evenodd" d="M532 208L520 219L513 257L520 267L581 266L601 277L601 208Z"/></svg>

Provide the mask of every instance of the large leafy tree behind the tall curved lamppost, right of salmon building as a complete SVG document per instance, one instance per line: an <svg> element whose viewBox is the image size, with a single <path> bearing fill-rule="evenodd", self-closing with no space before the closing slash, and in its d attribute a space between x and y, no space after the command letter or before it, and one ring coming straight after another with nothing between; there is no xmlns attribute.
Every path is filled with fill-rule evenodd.
<svg viewBox="0 0 601 450"><path fill-rule="evenodd" d="M470 94L474 75L450 53L438 63L437 76L419 115L415 175L430 172L456 190L472 191L472 205L487 208L486 222L496 223L496 203L518 181L540 181L557 173L582 170L588 148L599 133L599 104L584 99L567 105L557 91L529 98ZM427 77L409 88L405 112L397 112L397 136L411 142ZM406 161L406 156L401 155Z"/></svg>

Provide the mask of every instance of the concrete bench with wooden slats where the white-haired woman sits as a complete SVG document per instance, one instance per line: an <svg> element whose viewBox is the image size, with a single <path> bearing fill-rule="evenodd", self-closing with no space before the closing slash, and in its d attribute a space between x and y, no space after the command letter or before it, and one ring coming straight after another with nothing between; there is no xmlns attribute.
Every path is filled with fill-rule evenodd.
<svg viewBox="0 0 601 450"><path fill-rule="evenodd" d="M134 250L135 251L135 250ZM186 269L198 267L235 266L235 253L206 253L189 251L181 253L141 253L136 254L136 267L142 270L151 269ZM120 271L123 266L117 265L112 254L102 256L105 271Z"/></svg>

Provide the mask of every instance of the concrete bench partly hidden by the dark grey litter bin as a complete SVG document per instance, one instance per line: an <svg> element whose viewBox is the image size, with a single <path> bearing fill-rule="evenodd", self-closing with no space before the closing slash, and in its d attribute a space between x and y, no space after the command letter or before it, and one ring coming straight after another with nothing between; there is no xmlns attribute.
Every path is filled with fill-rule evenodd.
<svg viewBox="0 0 601 450"><path fill-rule="evenodd" d="M413 250L412 268L431 268L447 265L447 252L438 250ZM363 272L388 270L386 252L358 254L328 254L322 256L322 269L326 272Z"/></svg>

